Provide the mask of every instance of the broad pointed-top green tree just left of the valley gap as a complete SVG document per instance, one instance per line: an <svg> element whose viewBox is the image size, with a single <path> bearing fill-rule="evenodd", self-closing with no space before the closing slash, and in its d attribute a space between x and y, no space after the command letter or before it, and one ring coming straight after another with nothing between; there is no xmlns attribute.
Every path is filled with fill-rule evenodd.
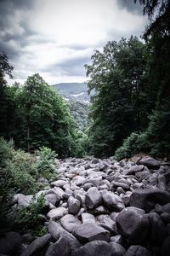
<svg viewBox="0 0 170 256"><path fill-rule="evenodd" d="M46 146L60 157L74 148L74 127L69 108L39 74L28 77L17 93L15 143L28 152Z"/></svg>

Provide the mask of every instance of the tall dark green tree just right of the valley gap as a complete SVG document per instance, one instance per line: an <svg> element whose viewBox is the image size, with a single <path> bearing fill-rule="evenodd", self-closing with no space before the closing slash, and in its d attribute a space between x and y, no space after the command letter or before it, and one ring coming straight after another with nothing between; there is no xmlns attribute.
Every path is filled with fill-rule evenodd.
<svg viewBox="0 0 170 256"><path fill-rule="evenodd" d="M92 97L89 128L91 152L97 156L114 153L132 131L143 130L150 105L146 104L150 52L138 38L108 42L96 50L92 65L86 65ZM147 86L146 86L147 85Z"/></svg>

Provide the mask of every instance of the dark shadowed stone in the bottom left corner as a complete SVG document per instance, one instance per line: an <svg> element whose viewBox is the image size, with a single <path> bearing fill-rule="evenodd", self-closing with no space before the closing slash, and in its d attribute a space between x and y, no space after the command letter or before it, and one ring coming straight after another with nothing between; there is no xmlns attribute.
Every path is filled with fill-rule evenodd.
<svg viewBox="0 0 170 256"><path fill-rule="evenodd" d="M17 253L21 245L21 236L16 232L7 232L0 237L0 253Z"/></svg>

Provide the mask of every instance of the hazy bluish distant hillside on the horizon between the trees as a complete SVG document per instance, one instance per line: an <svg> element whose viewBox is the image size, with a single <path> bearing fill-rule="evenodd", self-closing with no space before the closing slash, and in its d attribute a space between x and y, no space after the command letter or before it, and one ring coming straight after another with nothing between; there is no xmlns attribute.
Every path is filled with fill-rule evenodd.
<svg viewBox="0 0 170 256"><path fill-rule="evenodd" d="M67 99L77 99L80 101L90 101L88 95L88 84L86 83L61 83L54 84L54 89Z"/></svg>

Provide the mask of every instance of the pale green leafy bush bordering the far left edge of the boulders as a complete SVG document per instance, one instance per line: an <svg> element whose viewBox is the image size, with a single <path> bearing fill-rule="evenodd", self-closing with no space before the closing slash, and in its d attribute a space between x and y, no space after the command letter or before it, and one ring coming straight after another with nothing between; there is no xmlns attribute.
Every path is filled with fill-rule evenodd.
<svg viewBox="0 0 170 256"><path fill-rule="evenodd" d="M57 156L50 148L42 147L37 151L37 176L48 179L56 178L54 174L54 158Z"/></svg>

